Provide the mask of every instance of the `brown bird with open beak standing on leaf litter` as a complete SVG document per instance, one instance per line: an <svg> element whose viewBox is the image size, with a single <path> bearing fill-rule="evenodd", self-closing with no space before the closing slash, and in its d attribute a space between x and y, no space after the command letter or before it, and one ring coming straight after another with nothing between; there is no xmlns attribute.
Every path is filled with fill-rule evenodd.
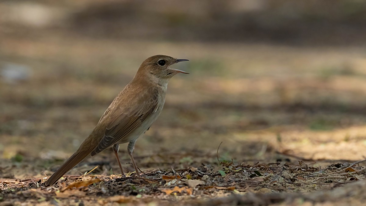
<svg viewBox="0 0 366 206"><path fill-rule="evenodd" d="M165 102L169 79L185 71L169 66L186 59L156 55L141 64L136 75L117 95L100 118L97 126L81 144L79 149L46 181L46 186L55 184L66 172L87 157L93 157L112 147L122 175L122 165L118 157L119 144L127 143L127 151L140 176L132 151L137 139L142 136L160 115Z"/></svg>

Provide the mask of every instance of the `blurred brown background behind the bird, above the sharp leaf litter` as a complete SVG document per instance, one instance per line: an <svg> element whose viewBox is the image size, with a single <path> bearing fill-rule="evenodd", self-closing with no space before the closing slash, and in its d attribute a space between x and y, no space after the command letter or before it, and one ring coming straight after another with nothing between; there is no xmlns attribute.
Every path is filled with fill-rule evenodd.
<svg viewBox="0 0 366 206"><path fill-rule="evenodd" d="M361 0L1 1L0 177L55 171L157 54L190 74L138 140L141 169L212 164L221 142L238 164L362 159L365 21ZM112 150L87 161L119 171Z"/></svg>

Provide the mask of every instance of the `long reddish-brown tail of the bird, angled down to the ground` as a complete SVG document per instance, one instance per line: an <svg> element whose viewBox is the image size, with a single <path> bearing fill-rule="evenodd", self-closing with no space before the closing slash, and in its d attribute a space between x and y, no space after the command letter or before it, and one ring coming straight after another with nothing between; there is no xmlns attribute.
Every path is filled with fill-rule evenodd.
<svg viewBox="0 0 366 206"><path fill-rule="evenodd" d="M55 173L53 173L50 178L48 178L48 180L46 181L46 187L55 184L55 182L59 180L60 177L62 177L66 172L68 172L74 166L79 164L79 162L88 157L89 154L90 153L87 151L76 151L62 166L60 166L59 169L57 169Z"/></svg>

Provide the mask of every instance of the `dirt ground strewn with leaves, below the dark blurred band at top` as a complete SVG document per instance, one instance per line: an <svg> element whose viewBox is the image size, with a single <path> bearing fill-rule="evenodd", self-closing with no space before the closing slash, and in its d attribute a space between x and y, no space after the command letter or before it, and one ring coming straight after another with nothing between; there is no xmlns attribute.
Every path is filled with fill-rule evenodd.
<svg viewBox="0 0 366 206"><path fill-rule="evenodd" d="M17 33L22 29L16 28ZM361 205L366 50L0 32L0 205ZM175 68L137 141L44 182L79 147L143 60ZM14 72L15 71L15 72ZM79 182L80 181L80 182Z"/></svg>

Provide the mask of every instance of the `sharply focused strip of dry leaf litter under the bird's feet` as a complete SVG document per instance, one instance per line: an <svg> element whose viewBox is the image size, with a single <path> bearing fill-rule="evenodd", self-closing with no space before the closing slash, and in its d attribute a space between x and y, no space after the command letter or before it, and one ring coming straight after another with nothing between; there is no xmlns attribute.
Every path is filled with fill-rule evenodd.
<svg viewBox="0 0 366 206"><path fill-rule="evenodd" d="M332 188L342 188L339 186L345 184L364 182L359 181L366 175L366 166L360 165L362 162L330 164L324 168L312 166L315 162L304 161L299 161L298 164L276 162L253 165L221 162L219 166L179 170L154 168L145 172L142 177L85 173L83 176L66 176L51 187L44 187L46 178L1 179L0 204L30 200L43 202L51 199L67 203L83 199L104 205L107 202L134 203L141 198L147 202L156 201L156 198L162 201L178 201L189 196L194 198L186 203L192 205L220 205L222 202L232 201L267 205L270 202L288 201L288 198L307 199L300 195L305 195L303 192L329 191ZM273 194L282 195L275 198ZM253 195L257 198L253 198ZM217 197L221 202L214 202L212 197ZM164 201L160 203L164 205Z"/></svg>

